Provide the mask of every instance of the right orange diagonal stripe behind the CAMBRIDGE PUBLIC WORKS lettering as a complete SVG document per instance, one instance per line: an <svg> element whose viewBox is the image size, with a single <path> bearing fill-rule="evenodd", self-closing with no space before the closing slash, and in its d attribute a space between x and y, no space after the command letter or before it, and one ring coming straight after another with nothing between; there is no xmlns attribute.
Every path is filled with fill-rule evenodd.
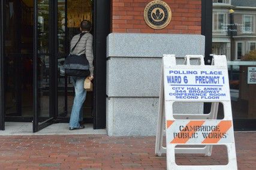
<svg viewBox="0 0 256 170"><path fill-rule="evenodd" d="M223 133L226 133L231 128L232 122L229 120L228 121L224 120L224 121L219 122L219 124L217 126L219 127L218 133L223 134ZM210 135L212 136L212 134L209 134L208 138L204 139L202 144L216 144L221 139L221 138L209 138ZM227 138L228 138L228 136L227 136Z"/></svg>

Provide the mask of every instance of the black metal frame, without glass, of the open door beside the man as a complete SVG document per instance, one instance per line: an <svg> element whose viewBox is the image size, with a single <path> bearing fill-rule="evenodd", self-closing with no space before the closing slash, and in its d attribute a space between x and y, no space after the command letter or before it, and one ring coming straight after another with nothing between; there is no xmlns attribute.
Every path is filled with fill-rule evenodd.
<svg viewBox="0 0 256 170"><path fill-rule="evenodd" d="M56 1L57 2L57 1ZM38 130L41 130L43 128L46 128L49 125L52 125L54 119L55 119L55 88L53 86L54 84L54 55L55 55L55 37L52 38L55 35L55 25L53 24L55 22L55 14L54 14L54 5L55 1L50 0L49 1L49 56L50 56L50 63L49 63L49 119L46 121L39 123L39 111L38 111L38 47L37 47L37 41L38 41L38 3L37 0L34 0L34 29L33 29L33 112L34 112L34 119L33 119L33 132L38 132Z"/></svg>

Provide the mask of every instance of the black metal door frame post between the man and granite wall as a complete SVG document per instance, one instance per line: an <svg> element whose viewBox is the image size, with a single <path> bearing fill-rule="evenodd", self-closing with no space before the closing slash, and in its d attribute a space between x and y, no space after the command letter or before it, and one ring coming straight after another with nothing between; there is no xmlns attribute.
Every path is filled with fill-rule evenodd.
<svg viewBox="0 0 256 170"><path fill-rule="evenodd" d="M106 128L107 35L110 33L110 0L94 1L94 129Z"/></svg>

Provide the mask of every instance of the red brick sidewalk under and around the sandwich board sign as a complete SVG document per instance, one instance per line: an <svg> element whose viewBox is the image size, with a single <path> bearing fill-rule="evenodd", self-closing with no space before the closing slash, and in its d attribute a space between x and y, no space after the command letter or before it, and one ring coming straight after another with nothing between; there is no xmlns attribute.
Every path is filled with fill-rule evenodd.
<svg viewBox="0 0 256 170"><path fill-rule="evenodd" d="M256 132L235 133L239 169L256 167ZM106 135L0 136L0 169L165 169L155 138ZM178 165L227 163L225 147L212 157L179 154Z"/></svg>

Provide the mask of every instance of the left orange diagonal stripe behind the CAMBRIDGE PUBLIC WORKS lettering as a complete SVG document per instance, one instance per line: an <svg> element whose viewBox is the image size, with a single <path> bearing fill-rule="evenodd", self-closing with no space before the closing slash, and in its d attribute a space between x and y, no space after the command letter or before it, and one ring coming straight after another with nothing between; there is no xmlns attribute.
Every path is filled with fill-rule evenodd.
<svg viewBox="0 0 256 170"><path fill-rule="evenodd" d="M204 124L204 120L202 121L190 121L188 123L188 125L186 125L187 127L190 126L201 126ZM179 136L182 136L182 133L186 133L188 136L192 136L192 134L194 134L195 132L197 132L197 130L186 130L186 126L184 126L184 128L182 129L181 132L179 132L179 134L176 136L176 138L173 139L173 141L170 142L170 144L185 144L186 142L188 142L189 138L179 138Z"/></svg>

